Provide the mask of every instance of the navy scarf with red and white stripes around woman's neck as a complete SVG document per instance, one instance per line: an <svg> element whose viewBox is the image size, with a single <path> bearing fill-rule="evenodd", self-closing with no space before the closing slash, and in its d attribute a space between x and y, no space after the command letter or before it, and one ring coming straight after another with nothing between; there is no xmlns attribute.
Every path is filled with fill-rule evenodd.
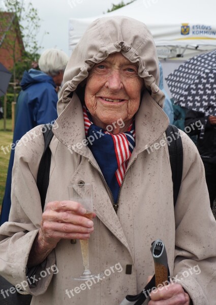
<svg viewBox="0 0 216 305"><path fill-rule="evenodd" d="M135 147L135 124L131 123L127 132L113 135L92 123L90 113L85 106L83 106L83 116L88 147L95 157L116 203L119 188Z"/></svg>

